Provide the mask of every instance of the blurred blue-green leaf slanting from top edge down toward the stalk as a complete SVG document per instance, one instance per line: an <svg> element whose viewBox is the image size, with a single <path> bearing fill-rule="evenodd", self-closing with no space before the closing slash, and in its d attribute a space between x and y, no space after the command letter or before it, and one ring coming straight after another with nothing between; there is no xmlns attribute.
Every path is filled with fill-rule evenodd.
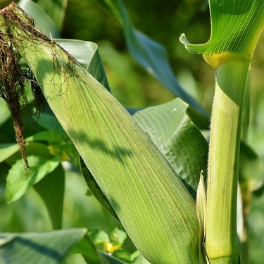
<svg viewBox="0 0 264 264"><path fill-rule="evenodd" d="M105 1L113 13L115 13L115 17L119 18L124 29L127 47L134 59L151 75L156 77L159 82L167 87L170 92L182 98L189 103L190 106L196 108L196 111L200 114L207 115L199 103L180 87L180 84L177 82L172 68L170 67L168 54L164 47L134 28L122 0Z"/></svg>

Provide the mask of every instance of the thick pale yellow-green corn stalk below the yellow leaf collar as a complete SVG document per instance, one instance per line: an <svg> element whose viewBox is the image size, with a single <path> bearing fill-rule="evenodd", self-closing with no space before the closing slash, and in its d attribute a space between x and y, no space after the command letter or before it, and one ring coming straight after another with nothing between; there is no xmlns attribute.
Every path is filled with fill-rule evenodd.
<svg viewBox="0 0 264 264"><path fill-rule="evenodd" d="M249 61L229 60L216 70L210 127L206 253L210 263L236 263L237 184L241 116Z"/></svg>

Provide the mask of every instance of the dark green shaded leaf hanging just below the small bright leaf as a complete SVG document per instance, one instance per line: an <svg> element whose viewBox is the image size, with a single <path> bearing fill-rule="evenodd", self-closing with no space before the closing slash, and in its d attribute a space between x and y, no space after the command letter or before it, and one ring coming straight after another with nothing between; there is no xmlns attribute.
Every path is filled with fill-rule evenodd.
<svg viewBox="0 0 264 264"><path fill-rule="evenodd" d="M34 189L42 197L51 218L54 230L61 229L63 216L63 200L65 175L61 164L46 177L34 185Z"/></svg>

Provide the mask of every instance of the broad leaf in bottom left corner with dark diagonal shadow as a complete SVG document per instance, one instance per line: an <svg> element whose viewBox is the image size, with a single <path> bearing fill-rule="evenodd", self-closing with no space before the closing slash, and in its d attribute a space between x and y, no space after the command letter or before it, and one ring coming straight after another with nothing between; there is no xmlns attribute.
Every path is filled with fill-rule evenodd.
<svg viewBox="0 0 264 264"><path fill-rule="evenodd" d="M59 264L87 232L85 229L45 233L0 234L0 263Z"/></svg>

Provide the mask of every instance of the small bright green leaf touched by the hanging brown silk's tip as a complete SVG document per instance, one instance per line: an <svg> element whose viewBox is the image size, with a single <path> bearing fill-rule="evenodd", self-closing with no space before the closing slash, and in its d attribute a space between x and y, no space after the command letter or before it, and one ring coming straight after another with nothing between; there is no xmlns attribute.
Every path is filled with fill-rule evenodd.
<svg viewBox="0 0 264 264"><path fill-rule="evenodd" d="M8 203L18 200L27 189L54 171L59 164L57 159L46 159L39 156L29 156L28 162L31 170L27 175L25 175L22 160L18 160L8 172L6 178Z"/></svg>

